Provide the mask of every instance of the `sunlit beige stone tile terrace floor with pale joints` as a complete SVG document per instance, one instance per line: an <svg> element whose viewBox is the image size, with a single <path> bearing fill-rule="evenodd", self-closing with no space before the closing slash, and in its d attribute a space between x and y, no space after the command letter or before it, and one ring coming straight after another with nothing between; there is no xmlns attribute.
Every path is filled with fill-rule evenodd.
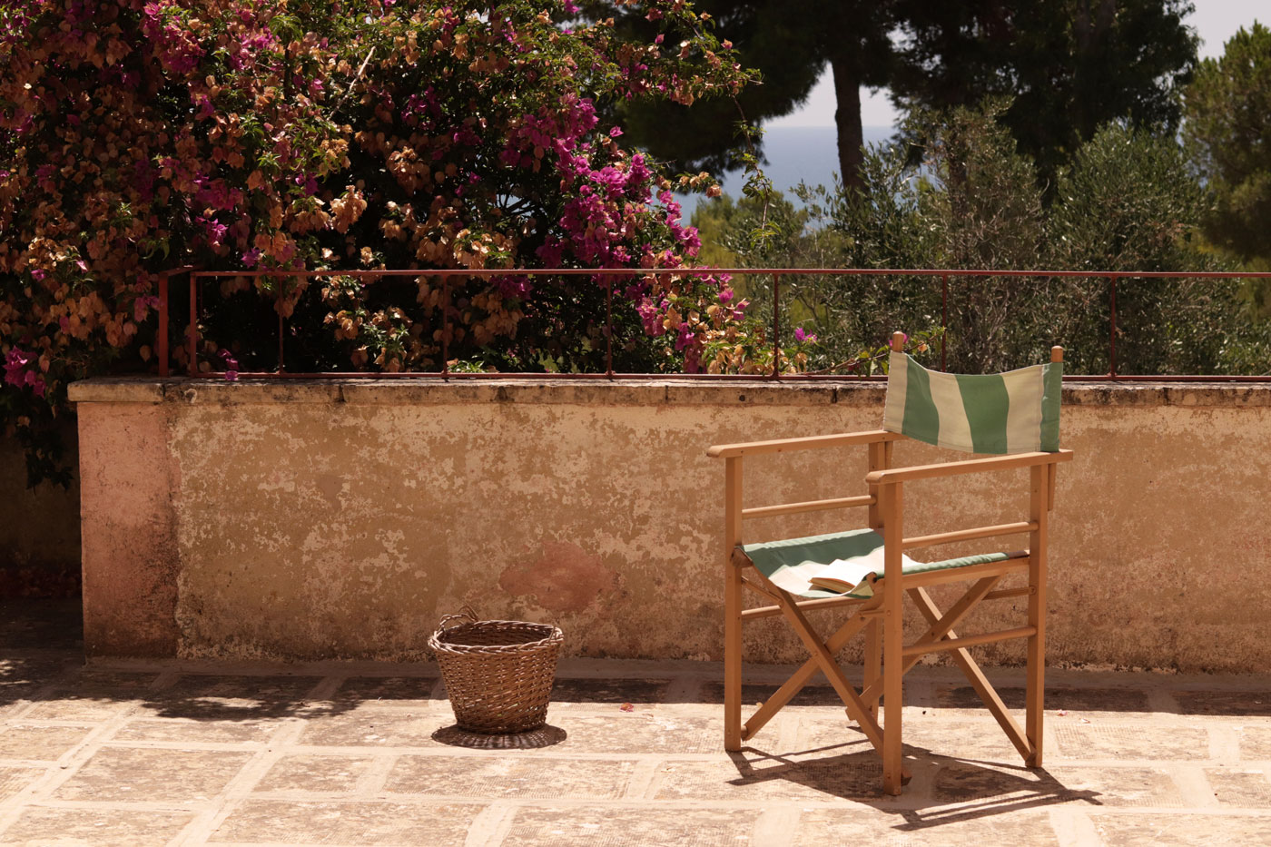
<svg viewBox="0 0 1271 847"><path fill-rule="evenodd" d="M433 665L83 666L24 608L0 844L1271 844L1271 678L1051 671L1030 771L956 670L915 670L886 797L824 685L730 755L718 665L571 660L544 730L472 736ZM783 678L752 671L751 702Z"/></svg>

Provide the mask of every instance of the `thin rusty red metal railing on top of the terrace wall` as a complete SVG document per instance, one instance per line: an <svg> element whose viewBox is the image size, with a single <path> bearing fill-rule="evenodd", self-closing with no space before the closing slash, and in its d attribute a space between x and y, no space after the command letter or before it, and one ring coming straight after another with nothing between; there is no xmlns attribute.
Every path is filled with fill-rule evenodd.
<svg viewBox="0 0 1271 847"><path fill-rule="evenodd" d="M815 380L871 380L871 379L885 379L882 375L869 375L869 374L825 374L825 373L782 373L780 364L780 315L782 315L782 277L798 275L798 276L920 276L920 277L939 277L941 281L941 326L948 327L949 320L949 279L962 279L962 277L1079 277L1079 279L1094 279L1107 281L1107 298L1108 298L1108 337L1107 337L1107 359L1108 359L1108 371L1106 374L1065 374L1065 380L1078 380L1078 382L1271 382L1271 373L1261 375L1243 375L1243 374L1121 374L1117 373L1117 281L1118 280L1145 280L1145 279L1179 279L1179 280L1271 280L1271 272L1244 272L1244 271L1210 271L1210 272L1186 272L1186 271L990 271L990 270L932 270L932 268L909 268L909 270L896 270L896 268L480 268L480 270L468 270L468 268L454 268L454 270L431 270L431 268L398 268L398 270L353 270L353 271L336 271L336 270L296 270L296 271L283 271L283 270L267 270L267 271L203 271L197 267L186 266L172 268L160 275L159 279L159 332L156 338L156 354L159 360L159 375L170 375L170 350L169 350L169 313L170 313L170 299L169 299L169 282L172 277L188 275L189 281L189 324L186 331L186 345L187 345L187 375L192 378L207 378L215 379L221 378L221 373L200 373L198 361L198 346L202 340L202 333L198 327L198 299L200 299L200 285L206 280L216 279L233 279L233 277L247 277L247 279L297 279L297 277L355 277L355 279L383 279L383 277L418 277L418 279L436 279L441 282L441 369L431 371L318 371L318 373L294 373L287 371L285 368L285 337L287 328L287 319L278 313L278 368L271 371L247 371L240 370L240 376L252 378L269 378L269 379L386 379L386 378L399 378L399 376L412 376L412 378L440 378L444 380L450 379L648 379L649 376L656 376L657 379L694 379L694 380L728 380L728 379L741 379L741 380L755 380L755 379L773 379L773 380L789 380L789 382L815 382ZM649 374L649 373L615 373L614 371L614 315L613 315L613 293L614 282L618 279L637 279L647 276L740 276L740 275L764 275L773 277L773 315L771 315L771 350L773 350L773 368L768 374ZM605 280L605 371L604 373L472 373L472 371L451 371L449 369L449 340L451 331L451 280L455 277L461 279L489 279L489 277L507 277L507 276L539 276L539 277L552 277L552 276L592 276ZM946 333L941 334L941 369L946 369L947 356L946 356ZM1271 362L1268 362L1271 366Z"/></svg>

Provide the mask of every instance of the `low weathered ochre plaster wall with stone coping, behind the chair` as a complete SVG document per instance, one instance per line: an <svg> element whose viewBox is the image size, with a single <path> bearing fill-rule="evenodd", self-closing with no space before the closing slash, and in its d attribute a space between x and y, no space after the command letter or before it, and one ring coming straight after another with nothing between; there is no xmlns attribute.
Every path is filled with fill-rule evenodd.
<svg viewBox="0 0 1271 847"><path fill-rule="evenodd" d="M89 650L272 659L416 659L463 604L555 621L573 654L717 659L723 465L705 448L876 429L882 404L862 385L511 380L92 380L71 396ZM1271 389L1074 387L1065 402L1077 458L1051 527L1051 661L1271 671ZM863 492L864 471L848 449L764 457L747 502ZM914 485L906 534L1022 520L1026 479ZM864 511L784 520L825 532ZM1021 603L991 608L960 630L1019 626ZM758 661L802 658L779 622L746 632Z"/></svg>

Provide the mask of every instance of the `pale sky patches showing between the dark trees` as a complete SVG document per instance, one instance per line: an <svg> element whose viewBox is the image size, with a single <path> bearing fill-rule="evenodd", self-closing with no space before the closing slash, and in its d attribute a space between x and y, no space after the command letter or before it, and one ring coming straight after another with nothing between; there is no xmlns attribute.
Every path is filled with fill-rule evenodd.
<svg viewBox="0 0 1271 847"><path fill-rule="evenodd" d="M1258 4L1248 0L1193 0L1196 11L1185 20L1200 34L1204 43L1201 57L1219 56L1223 43L1235 34L1240 27L1248 27L1257 18L1253 8ZM1262 23L1271 23L1271 11L1263 11ZM896 109L887 99L886 89L871 92L860 89L860 122L866 126L895 126ZM812 89L802 108L768 122L769 128L834 126L834 81L829 71Z"/></svg>

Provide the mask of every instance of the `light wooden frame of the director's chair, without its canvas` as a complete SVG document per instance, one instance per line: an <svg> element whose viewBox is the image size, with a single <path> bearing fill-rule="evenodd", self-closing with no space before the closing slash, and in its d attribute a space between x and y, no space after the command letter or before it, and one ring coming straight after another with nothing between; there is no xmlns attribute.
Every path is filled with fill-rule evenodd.
<svg viewBox="0 0 1271 847"><path fill-rule="evenodd" d="M899 340L894 338L894 348L899 348L897 343ZM1061 347L1055 347L1051 351L1051 360L1063 361ZM723 444L712 446L707 451L710 457L724 459L724 748L740 750L742 741L752 738L820 670L843 699L849 717L860 726L866 738L882 755L883 791L897 795L901 792L902 785L909 781L901 748L904 674L929 652L949 652L955 664L966 674L971 687L998 720L998 724L1002 725L1026 764L1033 768L1041 767L1046 673L1047 524L1055 499L1056 467L1060 462L1071 460L1073 453L1071 450L1019 453L895 468L892 467L892 448L900 440L907 439L895 432L876 430ZM862 445L867 446L869 451L869 472L866 476L868 495L742 507L742 463L746 457ZM1021 468L1030 469L1027 520L910 538L904 535L905 483ZM868 507L869 528L883 537L883 579L876 582L874 596L869 599L849 596L797 599L764 576L741 551L741 528L745 520L854 507ZM1030 543L1024 557L907 576L901 574L901 554L906 551L1019 533L1028 533ZM995 590L996 584L1003 577L1019 572L1027 572L1027 588ZM948 612L941 613L927 589L930 585L953 581L972 581L972 585L960 600L949 607ZM742 609L744 588L765 598L770 605ZM906 594L929 624L927 632L911 645L904 644L902 600ZM1028 598L1027 626L963 637L955 632L958 622L980 602L1018 596ZM806 612L840 607L857 607L857 613L848 618L829 638L822 640L808 623ZM782 616L791 623L808 650L810 658L742 724L741 626L745 621L775 616ZM866 637L866 661L864 679L858 692L848 682L835 660L835 655L862 631L864 631ZM969 647L1010 638L1028 640L1024 729L1021 729L1012 717L969 652ZM878 724L880 697L883 701L882 725Z"/></svg>

